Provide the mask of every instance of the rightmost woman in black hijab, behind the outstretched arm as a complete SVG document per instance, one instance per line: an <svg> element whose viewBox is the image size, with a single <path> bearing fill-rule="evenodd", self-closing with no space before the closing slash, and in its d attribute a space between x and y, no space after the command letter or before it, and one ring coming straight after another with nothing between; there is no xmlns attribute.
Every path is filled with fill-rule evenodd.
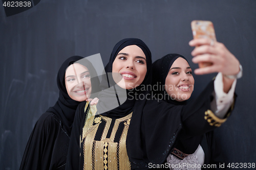
<svg viewBox="0 0 256 170"><path fill-rule="evenodd" d="M156 85L159 89L154 92L167 103L177 106L186 105L187 100L193 92L195 82L192 70L186 58L179 54L168 54L153 63L153 72L152 84ZM159 75L163 76L159 77ZM217 80L215 80L217 83L218 81L221 83L219 78L218 76ZM233 93L234 86L229 90L228 94L230 96L226 98L232 99ZM213 95L215 98L220 98L220 96L216 96L215 93L213 93ZM229 101L229 99L226 99L226 102L231 103L232 100ZM214 108L215 106L213 104L215 101L216 99L211 102L212 110L217 110L217 108ZM218 111L221 118L225 116L227 109L228 107ZM198 165L196 168L191 169L201 169L200 167L202 167L203 164L215 164L217 168L219 168L223 159L213 135L214 132L208 132L202 136L191 137L186 136L185 131L181 130L175 142L175 148L167 157L167 163L173 165L173 167L170 166L170 169L180 169L179 164L183 163L194 166L195 164ZM183 169L186 168L188 167L183 167Z"/></svg>

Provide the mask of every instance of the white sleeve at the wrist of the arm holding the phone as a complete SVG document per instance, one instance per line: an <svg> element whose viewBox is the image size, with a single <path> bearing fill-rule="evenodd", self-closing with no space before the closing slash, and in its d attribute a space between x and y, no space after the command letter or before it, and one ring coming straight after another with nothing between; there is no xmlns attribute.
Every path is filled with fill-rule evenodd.
<svg viewBox="0 0 256 170"><path fill-rule="evenodd" d="M229 107L233 102L234 89L236 88L237 79L234 80L230 90L228 93L223 91L223 81L222 81L222 73L216 76L214 81L214 92L212 95L214 96L214 100L210 103L210 108L212 112L215 113L219 118L224 118L227 113Z"/></svg>

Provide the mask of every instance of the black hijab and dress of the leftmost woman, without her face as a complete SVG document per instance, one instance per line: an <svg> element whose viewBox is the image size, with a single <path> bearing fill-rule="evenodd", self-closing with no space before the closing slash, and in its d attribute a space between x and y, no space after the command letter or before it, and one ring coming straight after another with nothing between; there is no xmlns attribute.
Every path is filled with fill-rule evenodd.
<svg viewBox="0 0 256 170"><path fill-rule="evenodd" d="M65 85L65 73L69 65L78 60L86 60L80 56L68 58L60 67L57 75L59 98L53 107L37 120L24 152L20 169L65 169L69 148L70 134L75 111L80 102L68 95ZM84 62L92 77L96 71L88 61ZM94 85L94 92L99 85Z"/></svg>

